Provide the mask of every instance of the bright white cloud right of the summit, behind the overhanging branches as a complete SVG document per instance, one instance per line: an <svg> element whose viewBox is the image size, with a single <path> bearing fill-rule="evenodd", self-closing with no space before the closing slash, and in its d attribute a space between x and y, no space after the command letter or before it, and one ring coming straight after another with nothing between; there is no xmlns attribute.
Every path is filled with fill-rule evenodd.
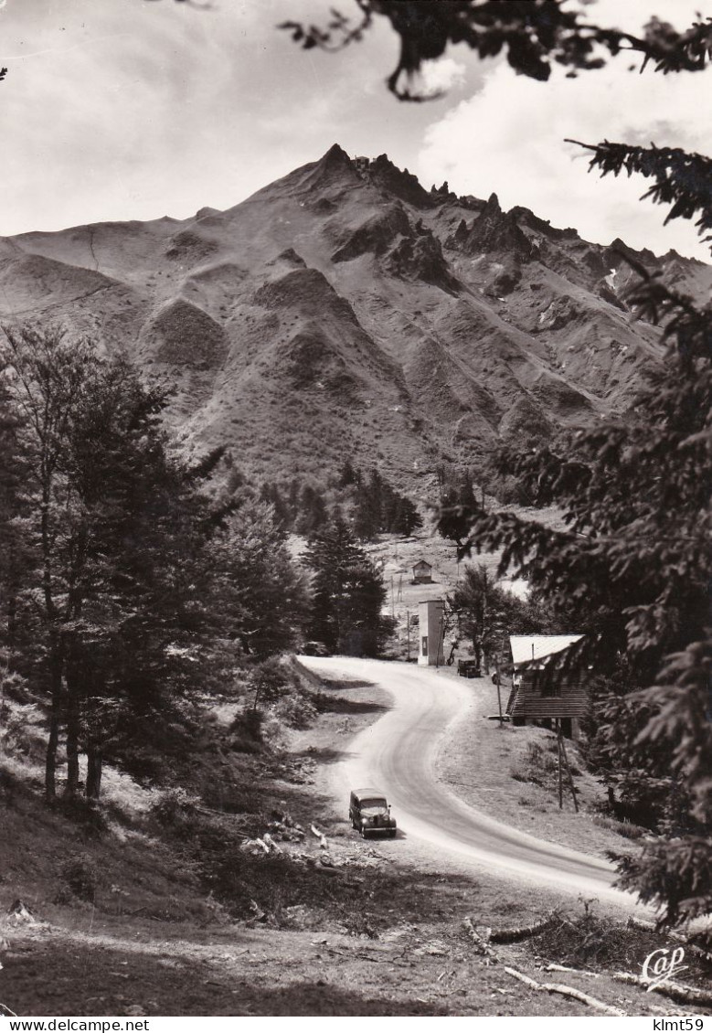
<svg viewBox="0 0 712 1033"><path fill-rule="evenodd" d="M712 152L712 127L701 117L712 75L640 75L627 66L621 59L575 80L557 69L543 84L498 65L484 89L429 127L419 175L428 183L446 179L461 194L496 192L502 207L523 205L554 225L575 226L588 240L621 237L633 247L674 247L709 260L689 222L663 228L667 210L640 202L650 181L601 182L587 173L587 152L564 143L652 139Z"/></svg>

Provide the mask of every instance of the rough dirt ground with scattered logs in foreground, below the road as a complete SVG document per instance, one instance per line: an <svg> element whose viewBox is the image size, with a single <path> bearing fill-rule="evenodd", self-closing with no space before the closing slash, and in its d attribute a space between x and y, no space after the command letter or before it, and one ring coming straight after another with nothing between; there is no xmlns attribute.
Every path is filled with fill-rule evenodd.
<svg viewBox="0 0 712 1033"><path fill-rule="evenodd" d="M219 817L218 833L230 822L249 836L271 827L277 846L269 857L257 847L253 855L248 839L248 851L235 855L227 875L242 880L237 903L224 880L207 891L194 856L158 838L146 819L96 837L19 792L3 813L8 837L0 846L0 1002L21 1015L596 1013L525 985L510 968L626 1014L701 1013L616 981L615 971L639 972L651 949L669 944L595 905L567 900L538 936L483 949L488 929L534 924L563 902L415 855L410 844L404 857L398 840L361 841L347 802L340 808L327 796L328 769L389 701L363 684L318 691L318 719L267 765L260 788L269 786L269 810ZM460 734L466 739L466 729ZM488 723L487 735L496 734ZM453 778L455 762L448 750ZM255 780L266 777L266 763L255 761ZM460 780L471 777L470 766ZM206 840L205 848L215 847ZM91 900L67 893L66 858L78 851L101 875ZM6 913L18 899L28 914ZM567 971L549 971L552 964ZM703 985L709 969L694 962L685 975Z"/></svg>

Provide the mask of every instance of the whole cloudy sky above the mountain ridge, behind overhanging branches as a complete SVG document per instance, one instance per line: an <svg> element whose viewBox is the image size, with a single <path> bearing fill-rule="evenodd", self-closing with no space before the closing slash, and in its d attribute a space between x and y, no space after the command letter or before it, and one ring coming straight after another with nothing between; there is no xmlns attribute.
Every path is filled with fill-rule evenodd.
<svg viewBox="0 0 712 1033"><path fill-rule="evenodd" d="M382 19L336 55L276 28L323 25L330 6L358 17L353 0L0 0L0 236L230 208L339 143L587 240L710 260L689 222L663 227L662 208L639 204L646 181L601 181L564 139L712 154L712 70L639 74L620 56L541 84L461 44L425 71L445 96L404 104L383 84L398 39ZM684 28L698 11L712 15L712 0L587 8L630 30L653 13Z"/></svg>

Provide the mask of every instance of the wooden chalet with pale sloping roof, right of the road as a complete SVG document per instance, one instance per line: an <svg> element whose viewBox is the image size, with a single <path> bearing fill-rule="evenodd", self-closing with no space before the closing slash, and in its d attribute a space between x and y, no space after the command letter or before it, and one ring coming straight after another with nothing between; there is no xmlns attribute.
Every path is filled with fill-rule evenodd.
<svg viewBox="0 0 712 1033"><path fill-rule="evenodd" d="M512 635L515 674L506 712L515 725L536 724L577 739L588 703L587 670L562 671L582 635ZM557 669L559 668L559 669Z"/></svg>

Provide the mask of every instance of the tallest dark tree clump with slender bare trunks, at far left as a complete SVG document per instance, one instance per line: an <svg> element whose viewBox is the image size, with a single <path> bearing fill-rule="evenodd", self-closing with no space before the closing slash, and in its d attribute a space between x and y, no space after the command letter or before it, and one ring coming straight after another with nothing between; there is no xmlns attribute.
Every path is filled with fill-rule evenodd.
<svg viewBox="0 0 712 1033"><path fill-rule="evenodd" d="M17 653L48 699L45 795L64 731L66 795L84 749L96 799L105 748L160 738L149 716L163 728L193 684L199 555L214 527L196 484L210 463L169 459L162 393L89 342L24 327L6 332L2 357L27 469Z"/></svg>

